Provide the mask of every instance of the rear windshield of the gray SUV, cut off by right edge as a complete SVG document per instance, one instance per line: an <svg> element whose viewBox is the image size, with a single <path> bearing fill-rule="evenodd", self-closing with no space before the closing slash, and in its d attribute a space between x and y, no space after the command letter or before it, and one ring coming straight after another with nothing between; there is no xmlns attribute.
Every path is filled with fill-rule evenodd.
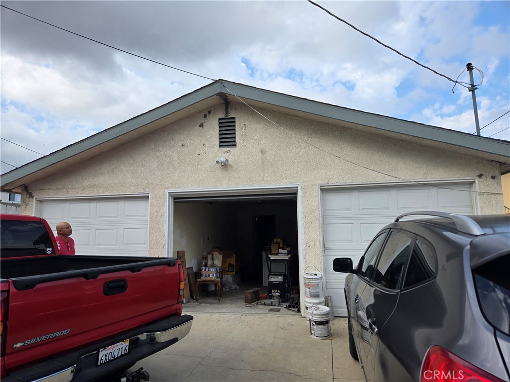
<svg viewBox="0 0 510 382"><path fill-rule="evenodd" d="M474 269L478 301L487 320L510 335L510 253Z"/></svg>

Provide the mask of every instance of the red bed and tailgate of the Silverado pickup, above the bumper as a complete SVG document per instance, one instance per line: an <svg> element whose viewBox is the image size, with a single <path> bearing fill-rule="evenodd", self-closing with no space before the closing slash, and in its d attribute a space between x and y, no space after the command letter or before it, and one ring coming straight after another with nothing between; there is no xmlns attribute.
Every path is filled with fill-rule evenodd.
<svg viewBox="0 0 510 382"><path fill-rule="evenodd" d="M2 259L2 282L11 285L6 368L180 316L178 262L118 256Z"/></svg>

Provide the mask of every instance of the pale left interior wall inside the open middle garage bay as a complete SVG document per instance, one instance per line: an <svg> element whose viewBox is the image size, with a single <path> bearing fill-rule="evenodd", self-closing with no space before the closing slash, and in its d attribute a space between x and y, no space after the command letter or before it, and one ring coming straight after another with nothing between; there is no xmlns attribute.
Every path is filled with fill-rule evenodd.
<svg viewBox="0 0 510 382"><path fill-rule="evenodd" d="M186 265L199 269L200 258L213 248L237 245L237 213L220 203L173 205L173 256L185 251Z"/></svg>

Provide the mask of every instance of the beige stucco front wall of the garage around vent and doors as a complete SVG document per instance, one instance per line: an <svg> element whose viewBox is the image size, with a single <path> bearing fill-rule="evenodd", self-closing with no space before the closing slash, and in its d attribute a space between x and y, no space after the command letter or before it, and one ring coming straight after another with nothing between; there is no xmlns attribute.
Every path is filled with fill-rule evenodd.
<svg viewBox="0 0 510 382"><path fill-rule="evenodd" d="M161 254L168 229L166 190L298 184L303 267L322 264L319 185L474 179L480 192L479 212L503 213L501 177L497 163L489 160L259 109L269 121L238 102L232 102L229 111L236 117L237 148L218 149L218 118L224 117L224 105L218 103L29 184L29 193L33 197L149 193L149 254ZM216 165L220 157L230 163ZM34 199L26 192L22 197L22 213L33 213ZM184 245L178 232L174 237Z"/></svg>

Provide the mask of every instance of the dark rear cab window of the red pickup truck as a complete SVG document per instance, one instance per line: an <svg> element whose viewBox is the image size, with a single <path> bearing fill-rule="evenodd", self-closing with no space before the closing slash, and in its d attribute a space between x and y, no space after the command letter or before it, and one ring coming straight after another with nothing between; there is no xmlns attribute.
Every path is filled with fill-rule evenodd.
<svg viewBox="0 0 510 382"><path fill-rule="evenodd" d="M2 220L0 250L2 258L55 254L44 224L31 221Z"/></svg>

